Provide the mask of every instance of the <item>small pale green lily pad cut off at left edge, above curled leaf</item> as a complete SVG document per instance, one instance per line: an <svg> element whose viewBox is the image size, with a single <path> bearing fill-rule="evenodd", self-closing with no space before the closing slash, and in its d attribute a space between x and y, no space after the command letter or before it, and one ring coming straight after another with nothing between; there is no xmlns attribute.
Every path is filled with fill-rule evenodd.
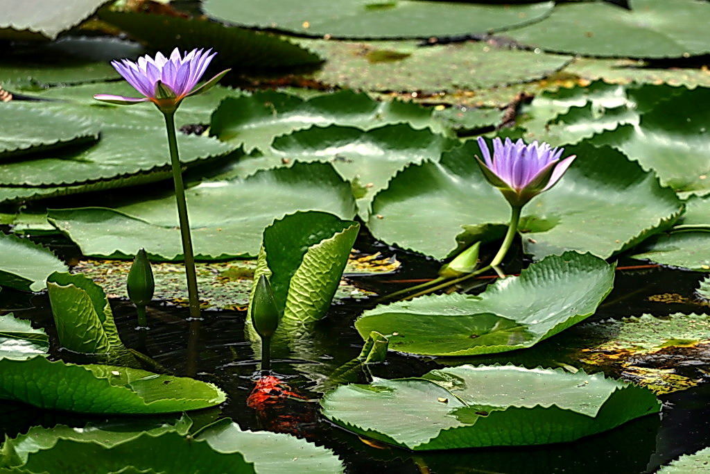
<svg viewBox="0 0 710 474"><path fill-rule="evenodd" d="M0 285L23 291L40 291L53 271L67 271L50 249L1 232L0 256Z"/></svg>

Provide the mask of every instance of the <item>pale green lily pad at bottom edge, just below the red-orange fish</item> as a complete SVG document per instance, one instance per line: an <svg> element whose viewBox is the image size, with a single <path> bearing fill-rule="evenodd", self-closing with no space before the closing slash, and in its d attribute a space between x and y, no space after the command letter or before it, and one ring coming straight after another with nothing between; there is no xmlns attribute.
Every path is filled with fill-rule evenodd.
<svg viewBox="0 0 710 474"><path fill-rule="evenodd" d="M228 418L202 429L195 438L207 441L219 453L241 453L247 462L254 463L256 473L335 474L344 469L327 448L286 433L243 431Z"/></svg>

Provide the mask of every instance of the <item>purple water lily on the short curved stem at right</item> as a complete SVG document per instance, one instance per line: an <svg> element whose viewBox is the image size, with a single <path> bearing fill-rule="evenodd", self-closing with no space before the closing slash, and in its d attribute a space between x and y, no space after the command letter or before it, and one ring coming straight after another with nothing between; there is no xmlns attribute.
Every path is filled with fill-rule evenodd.
<svg viewBox="0 0 710 474"><path fill-rule="evenodd" d="M476 156L481 171L515 207L522 207L542 191L552 188L575 158L572 155L560 160L562 148L552 148L537 141L525 145L521 139L513 143L508 138L505 143L493 139L491 158L486 141L480 136L478 141L485 161Z"/></svg>

